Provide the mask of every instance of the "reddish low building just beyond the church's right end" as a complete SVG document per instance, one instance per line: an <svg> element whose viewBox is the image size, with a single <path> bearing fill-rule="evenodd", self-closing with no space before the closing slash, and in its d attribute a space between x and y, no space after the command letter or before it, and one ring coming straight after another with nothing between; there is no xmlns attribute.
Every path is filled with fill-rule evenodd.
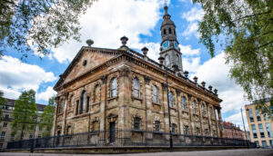
<svg viewBox="0 0 273 156"><path fill-rule="evenodd" d="M223 137L229 139L249 140L248 132L244 132L240 127L232 122L223 122Z"/></svg>

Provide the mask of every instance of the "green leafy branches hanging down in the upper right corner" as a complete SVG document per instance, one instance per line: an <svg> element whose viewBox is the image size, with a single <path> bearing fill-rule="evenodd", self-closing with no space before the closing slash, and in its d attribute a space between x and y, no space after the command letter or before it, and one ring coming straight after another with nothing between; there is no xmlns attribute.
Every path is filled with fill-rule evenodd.
<svg viewBox="0 0 273 156"><path fill-rule="evenodd" d="M215 44L222 40L227 63L232 64L231 78L242 86L248 100L255 100L263 112L273 114L264 101L269 98L273 106L273 1L193 2L205 12L198 24L200 42L213 57Z"/></svg>

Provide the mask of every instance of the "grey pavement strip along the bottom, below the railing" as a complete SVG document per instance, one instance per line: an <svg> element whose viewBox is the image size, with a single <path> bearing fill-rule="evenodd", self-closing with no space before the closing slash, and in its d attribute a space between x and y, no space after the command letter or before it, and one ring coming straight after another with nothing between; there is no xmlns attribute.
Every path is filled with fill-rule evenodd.
<svg viewBox="0 0 273 156"><path fill-rule="evenodd" d="M273 156L273 149L244 149L219 151L174 151L174 152L146 152L126 154L54 154L54 153L26 153L26 152L0 152L0 156Z"/></svg>

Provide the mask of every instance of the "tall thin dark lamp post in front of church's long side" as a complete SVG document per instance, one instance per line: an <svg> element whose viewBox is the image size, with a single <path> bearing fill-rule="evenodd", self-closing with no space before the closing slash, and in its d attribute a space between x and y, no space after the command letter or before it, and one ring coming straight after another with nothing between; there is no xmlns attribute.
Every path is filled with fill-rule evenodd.
<svg viewBox="0 0 273 156"><path fill-rule="evenodd" d="M168 85L167 85L167 67L163 65L163 61L165 60L164 57L160 56L158 58L160 66L165 69L166 73L166 87L167 87L167 112L168 112L168 126L169 126L169 147L170 151L174 151L173 147L173 136L172 136L172 126L171 126L171 118L170 118L170 109L169 109L169 99L168 99ZM175 65L174 65L175 66Z"/></svg>

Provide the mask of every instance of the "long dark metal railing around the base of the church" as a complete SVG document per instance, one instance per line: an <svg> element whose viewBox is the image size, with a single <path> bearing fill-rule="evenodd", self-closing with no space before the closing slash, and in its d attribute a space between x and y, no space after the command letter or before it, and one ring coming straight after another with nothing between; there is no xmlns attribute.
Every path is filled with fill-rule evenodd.
<svg viewBox="0 0 273 156"><path fill-rule="evenodd" d="M256 144L246 140L173 133L174 147L177 146L246 146ZM169 133L136 130L83 132L31 140L10 141L7 149L34 149L57 147L126 147L126 146L169 146Z"/></svg>

